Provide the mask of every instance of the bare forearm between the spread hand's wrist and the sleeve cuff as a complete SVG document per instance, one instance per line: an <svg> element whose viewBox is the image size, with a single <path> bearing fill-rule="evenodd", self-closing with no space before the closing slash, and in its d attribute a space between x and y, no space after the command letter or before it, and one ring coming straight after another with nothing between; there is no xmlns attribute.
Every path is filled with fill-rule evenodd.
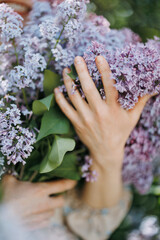
<svg viewBox="0 0 160 240"><path fill-rule="evenodd" d="M94 159L93 159L94 160ZM123 154L117 154L117 162L123 161ZM107 165L107 164L106 164ZM94 161L92 169L98 173L94 183L86 183L82 193L82 200L95 208L115 206L123 195L121 165L118 167L100 167Z"/></svg>

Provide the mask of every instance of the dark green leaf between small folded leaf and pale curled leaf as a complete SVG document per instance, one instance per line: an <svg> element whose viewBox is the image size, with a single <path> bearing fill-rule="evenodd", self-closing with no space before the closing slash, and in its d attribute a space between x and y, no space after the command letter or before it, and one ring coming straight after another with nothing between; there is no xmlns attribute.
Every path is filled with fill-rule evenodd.
<svg viewBox="0 0 160 240"><path fill-rule="evenodd" d="M40 132L37 141L50 134L66 134L69 132L70 123L59 108L50 108L42 117Z"/></svg>

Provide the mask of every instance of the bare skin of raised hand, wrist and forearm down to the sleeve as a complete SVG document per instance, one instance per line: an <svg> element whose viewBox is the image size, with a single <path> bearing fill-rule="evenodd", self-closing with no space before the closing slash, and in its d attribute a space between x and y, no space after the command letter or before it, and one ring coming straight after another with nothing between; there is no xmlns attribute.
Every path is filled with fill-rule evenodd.
<svg viewBox="0 0 160 240"><path fill-rule="evenodd" d="M134 109L124 110L117 101L118 92L107 61L98 56L96 65L102 77L106 100L101 99L82 57L75 58L75 67L87 102L77 90L72 93L73 80L67 74L70 72L68 68L64 69L63 78L74 107L58 88L55 96L57 104L89 149L93 159L92 169L99 175L98 181L85 184L82 200L92 207L104 208L114 206L122 197L124 146L150 96L140 98Z"/></svg>

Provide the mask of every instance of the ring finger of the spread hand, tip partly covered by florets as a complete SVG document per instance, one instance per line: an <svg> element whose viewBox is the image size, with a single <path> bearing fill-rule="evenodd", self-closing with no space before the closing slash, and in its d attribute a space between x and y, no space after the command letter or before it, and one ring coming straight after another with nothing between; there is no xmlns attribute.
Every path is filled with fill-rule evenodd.
<svg viewBox="0 0 160 240"><path fill-rule="evenodd" d="M78 90L75 90L73 93L73 80L68 76L68 73L70 72L69 69L65 68L63 71L63 79L64 84L67 89L68 96L76 108L76 110L83 116L87 114L87 111L89 110L87 103L82 99L80 93Z"/></svg>

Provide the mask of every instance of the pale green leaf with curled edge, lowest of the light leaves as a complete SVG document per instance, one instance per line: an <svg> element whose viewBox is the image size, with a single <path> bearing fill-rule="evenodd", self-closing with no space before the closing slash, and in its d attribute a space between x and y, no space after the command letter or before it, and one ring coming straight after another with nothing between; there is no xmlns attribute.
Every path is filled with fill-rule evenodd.
<svg viewBox="0 0 160 240"><path fill-rule="evenodd" d="M55 136L51 151L42 161L40 173L51 172L61 165L64 155L75 148L75 141L71 138Z"/></svg>

